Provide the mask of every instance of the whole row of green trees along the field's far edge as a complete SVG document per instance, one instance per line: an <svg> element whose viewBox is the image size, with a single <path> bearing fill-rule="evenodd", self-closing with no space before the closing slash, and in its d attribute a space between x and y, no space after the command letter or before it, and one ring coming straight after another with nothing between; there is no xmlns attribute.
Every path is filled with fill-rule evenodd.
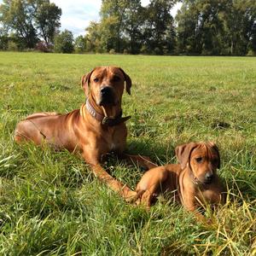
<svg viewBox="0 0 256 256"><path fill-rule="evenodd" d="M182 7L175 18L171 10ZM153 55L256 54L254 0L102 0L85 36L59 32L61 9L49 0L3 0L0 49Z"/></svg>

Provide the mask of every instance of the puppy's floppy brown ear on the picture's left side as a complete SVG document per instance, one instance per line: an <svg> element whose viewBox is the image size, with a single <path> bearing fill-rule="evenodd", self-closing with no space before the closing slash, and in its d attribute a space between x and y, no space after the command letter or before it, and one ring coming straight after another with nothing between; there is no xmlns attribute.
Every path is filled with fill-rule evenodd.
<svg viewBox="0 0 256 256"><path fill-rule="evenodd" d="M188 143L188 144L177 146L175 148L175 154L177 156L177 160L180 166L182 167L182 169L184 169L187 166L189 162L190 154L192 150L196 147L197 147L197 143Z"/></svg>

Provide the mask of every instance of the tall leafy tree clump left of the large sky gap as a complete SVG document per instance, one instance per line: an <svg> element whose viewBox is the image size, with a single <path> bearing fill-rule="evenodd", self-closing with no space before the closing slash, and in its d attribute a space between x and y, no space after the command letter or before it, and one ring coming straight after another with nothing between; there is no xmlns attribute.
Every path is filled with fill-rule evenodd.
<svg viewBox="0 0 256 256"><path fill-rule="evenodd" d="M60 18L61 9L49 0L3 0L0 5L3 27L26 48L34 48L39 38L52 44Z"/></svg>

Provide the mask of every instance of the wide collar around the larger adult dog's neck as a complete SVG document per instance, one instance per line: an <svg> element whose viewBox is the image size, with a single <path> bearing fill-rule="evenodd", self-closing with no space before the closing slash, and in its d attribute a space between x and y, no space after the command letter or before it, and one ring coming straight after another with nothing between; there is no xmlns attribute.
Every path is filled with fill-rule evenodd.
<svg viewBox="0 0 256 256"><path fill-rule="evenodd" d="M96 109L92 107L88 98L86 100L85 107L90 113L90 115L96 120L98 120L99 122L101 122L102 125L115 126L115 125L124 123L128 119L131 119L131 115L122 118L122 114L123 114L122 109L115 118L109 118L107 116L103 116L102 114L96 112Z"/></svg>

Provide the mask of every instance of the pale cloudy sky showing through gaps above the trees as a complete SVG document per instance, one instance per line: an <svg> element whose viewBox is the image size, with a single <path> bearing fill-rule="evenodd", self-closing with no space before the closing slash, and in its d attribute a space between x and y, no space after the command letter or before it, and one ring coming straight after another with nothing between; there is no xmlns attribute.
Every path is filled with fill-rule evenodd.
<svg viewBox="0 0 256 256"><path fill-rule="evenodd" d="M61 30L68 29L74 36L84 35L85 27L91 20L99 20L99 11L102 0L51 0L62 9ZM0 0L0 3L3 3ZM149 0L142 0L143 6L147 5ZM172 9L172 15L176 15L180 4Z"/></svg>

